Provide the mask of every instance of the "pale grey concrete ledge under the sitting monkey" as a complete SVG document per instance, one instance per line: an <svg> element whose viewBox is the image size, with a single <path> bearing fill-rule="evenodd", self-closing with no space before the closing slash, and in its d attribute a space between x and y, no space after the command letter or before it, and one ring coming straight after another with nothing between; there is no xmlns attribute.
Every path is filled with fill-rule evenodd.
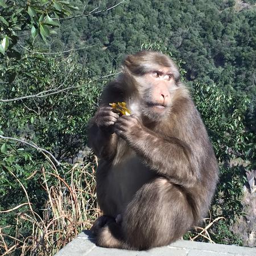
<svg viewBox="0 0 256 256"><path fill-rule="evenodd" d="M177 241L171 245L154 248L148 251L128 251L119 249L108 249L98 247L94 243L94 238L90 236L90 232L85 230L77 236L72 242L64 246L55 256L124 256L124 255L139 255L139 256L255 256L256 248L240 247L235 245L217 245L213 243L192 242L192 241Z"/></svg>

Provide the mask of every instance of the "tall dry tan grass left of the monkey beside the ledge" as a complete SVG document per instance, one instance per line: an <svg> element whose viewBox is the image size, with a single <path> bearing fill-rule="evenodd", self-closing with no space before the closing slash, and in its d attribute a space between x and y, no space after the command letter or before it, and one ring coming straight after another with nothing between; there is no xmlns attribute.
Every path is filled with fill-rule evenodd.
<svg viewBox="0 0 256 256"><path fill-rule="evenodd" d="M0 228L0 254L54 255L76 237L81 230L90 228L100 213L96 203L96 182L93 166L90 163L86 166L82 164L73 166L69 173L65 174L69 177L69 183L58 174L55 167L47 171L42 167L40 171L44 181L42 185L48 196L43 216L39 216L35 212L26 189L11 172L23 188L27 203L0 212L0 218L2 213L18 212L16 214L16 232L13 236L5 233L9 227ZM49 184L49 176L52 176L51 184L54 186ZM24 205L28 205L29 209L19 212L18 209L23 209ZM26 222L32 226L31 234L22 237L20 230L24 223L26 225Z"/></svg>

